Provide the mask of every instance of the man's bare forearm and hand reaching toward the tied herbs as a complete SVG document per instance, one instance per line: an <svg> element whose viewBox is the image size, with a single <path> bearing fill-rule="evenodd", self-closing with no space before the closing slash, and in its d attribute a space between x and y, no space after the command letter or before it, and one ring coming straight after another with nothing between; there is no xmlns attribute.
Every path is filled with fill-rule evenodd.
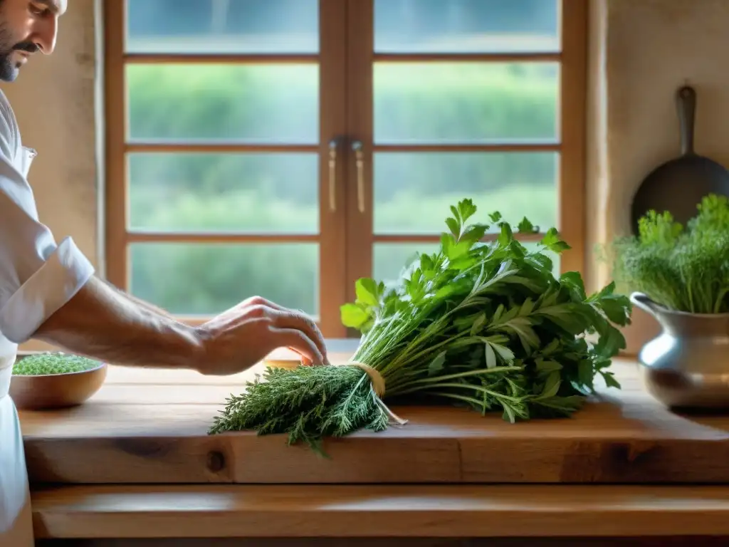
<svg viewBox="0 0 729 547"><path fill-rule="evenodd" d="M311 319L262 298L251 298L191 327L140 306L93 277L36 331L34 338L117 365L190 368L203 374L245 371L279 347L305 364L327 362Z"/></svg>

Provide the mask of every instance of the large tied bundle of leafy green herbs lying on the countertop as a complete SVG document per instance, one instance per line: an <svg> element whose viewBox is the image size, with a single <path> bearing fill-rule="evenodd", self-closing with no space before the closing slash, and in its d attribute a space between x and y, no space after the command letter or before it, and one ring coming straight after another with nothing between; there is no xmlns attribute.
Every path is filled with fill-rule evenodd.
<svg viewBox="0 0 729 547"><path fill-rule="evenodd" d="M499 235L484 243L488 225L467 224L471 200L451 212L438 252L419 255L399 282L356 283L356 301L341 309L343 324L362 332L351 362L268 368L227 400L210 432L285 432L316 447L404 423L384 402L399 397L500 410L516 422L572 414L597 375L619 387L607 368L625 346L614 325L630 322L628 298L612 284L588 297L576 272L555 278L547 252L569 247L554 228L529 252L499 213ZM518 230L537 233L526 219Z"/></svg>

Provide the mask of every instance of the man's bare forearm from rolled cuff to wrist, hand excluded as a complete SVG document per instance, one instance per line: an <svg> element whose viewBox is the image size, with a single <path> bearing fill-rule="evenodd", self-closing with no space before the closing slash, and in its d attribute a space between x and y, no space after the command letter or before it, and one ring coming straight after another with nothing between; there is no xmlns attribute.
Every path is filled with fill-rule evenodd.
<svg viewBox="0 0 729 547"><path fill-rule="evenodd" d="M34 338L118 365L198 368L204 355L192 327L139 306L96 277Z"/></svg>

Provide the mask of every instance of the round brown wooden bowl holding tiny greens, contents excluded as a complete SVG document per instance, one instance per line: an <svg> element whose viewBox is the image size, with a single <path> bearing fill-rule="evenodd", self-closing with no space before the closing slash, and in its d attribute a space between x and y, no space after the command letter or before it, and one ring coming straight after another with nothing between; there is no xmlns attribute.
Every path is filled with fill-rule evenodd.
<svg viewBox="0 0 729 547"><path fill-rule="evenodd" d="M18 355L18 360L24 356ZM21 410L46 410L78 406L101 389L106 379L105 362L87 371L61 374L14 374L10 397Z"/></svg>

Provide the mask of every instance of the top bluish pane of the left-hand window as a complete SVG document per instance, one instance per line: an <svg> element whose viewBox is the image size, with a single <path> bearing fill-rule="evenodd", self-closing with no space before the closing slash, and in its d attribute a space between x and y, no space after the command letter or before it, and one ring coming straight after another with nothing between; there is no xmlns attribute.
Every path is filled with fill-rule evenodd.
<svg viewBox="0 0 729 547"><path fill-rule="evenodd" d="M126 2L130 53L319 51L318 0Z"/></svg>

